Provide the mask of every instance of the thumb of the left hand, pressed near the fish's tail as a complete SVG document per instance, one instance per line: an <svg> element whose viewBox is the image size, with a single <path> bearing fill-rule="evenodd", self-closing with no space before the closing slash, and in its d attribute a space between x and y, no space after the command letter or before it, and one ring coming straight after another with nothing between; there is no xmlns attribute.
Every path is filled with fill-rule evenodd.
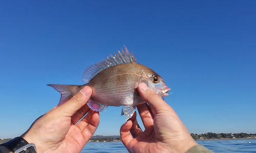
<svg viewBox="0 0 256 153"><path fill-rule="evenodd" d="M90 86L85 86L79 93L73 96L66 103L58 106L53 111L59 111L61 116L73 116L82 106L84 106L92 95Z"/></svg>

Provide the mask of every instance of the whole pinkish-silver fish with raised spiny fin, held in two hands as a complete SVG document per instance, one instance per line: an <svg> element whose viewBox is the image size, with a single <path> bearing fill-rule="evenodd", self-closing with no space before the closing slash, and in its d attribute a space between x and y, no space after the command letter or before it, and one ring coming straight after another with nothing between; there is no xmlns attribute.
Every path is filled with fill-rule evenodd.
<svg viewBox="0 0 256 153"><path fill-rule="evenodd" d="M137 87L144 82L148 88L155 91L160 97L168 96L170 88L163 78L146 66L137 63L134 54L124 46L125 51L110 55L106 59L91 65L83 74L83 85L47 84L61 94L58 105L70 100L84 86L92 88L92 96L87 102L93 111L101 113L108 106L123 106L121 115L126 121L135 112L136 105L145 103L140 97Z"/></svg>

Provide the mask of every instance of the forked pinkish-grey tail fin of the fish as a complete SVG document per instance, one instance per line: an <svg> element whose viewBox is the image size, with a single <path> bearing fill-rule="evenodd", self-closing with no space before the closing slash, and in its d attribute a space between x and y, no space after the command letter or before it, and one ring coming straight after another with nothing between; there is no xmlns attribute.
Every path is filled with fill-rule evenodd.
<svg viewBox="0 0 256 153"><path fill-rule="evenodd" d="M61 94L58 106L70 100L74 95L76 95L82 89L81 85L64 85L64 84L47 84L47 85L51 86Z"/></svg>

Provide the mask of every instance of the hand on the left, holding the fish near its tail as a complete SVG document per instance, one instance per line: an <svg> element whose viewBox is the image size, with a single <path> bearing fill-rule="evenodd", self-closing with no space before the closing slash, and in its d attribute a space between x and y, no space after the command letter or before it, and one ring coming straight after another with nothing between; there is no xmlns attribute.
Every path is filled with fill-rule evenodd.
<svg viewBox="0 0 256 153"><path fill-rule="evenodd" d="M37 152L80 152L99 125L99 114L86 105L91 94L92 89L84 87L69 101L39 117L21 137L34 143Z"/></svg>

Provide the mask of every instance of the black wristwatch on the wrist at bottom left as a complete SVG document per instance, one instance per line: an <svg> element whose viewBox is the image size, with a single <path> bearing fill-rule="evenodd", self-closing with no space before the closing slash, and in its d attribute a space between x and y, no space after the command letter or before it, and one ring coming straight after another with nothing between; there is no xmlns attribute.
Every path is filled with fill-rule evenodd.
<svg viewBox="0 0 256 153"><path fill-rule="evenodd" d="M22 137L16 137L12 140L0 144L0 146L5 146L14 153L36 153L36 148L33 143L28 143Z"/></svg>

